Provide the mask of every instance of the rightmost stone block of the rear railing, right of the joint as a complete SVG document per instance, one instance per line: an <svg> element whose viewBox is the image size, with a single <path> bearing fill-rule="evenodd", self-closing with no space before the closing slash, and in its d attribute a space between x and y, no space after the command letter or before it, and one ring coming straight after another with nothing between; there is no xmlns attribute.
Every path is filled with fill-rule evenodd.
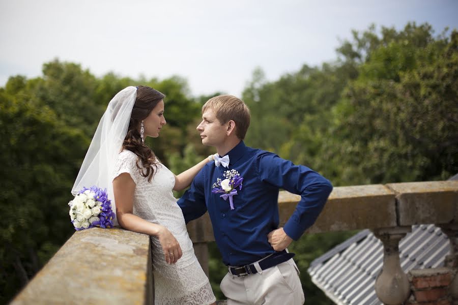
<svg viewBox="0 0 458 305"><path fill-rule="evenodd" d="M446 224L458 221L458 181L387 184L396 194L398 225Z"/></svg>

